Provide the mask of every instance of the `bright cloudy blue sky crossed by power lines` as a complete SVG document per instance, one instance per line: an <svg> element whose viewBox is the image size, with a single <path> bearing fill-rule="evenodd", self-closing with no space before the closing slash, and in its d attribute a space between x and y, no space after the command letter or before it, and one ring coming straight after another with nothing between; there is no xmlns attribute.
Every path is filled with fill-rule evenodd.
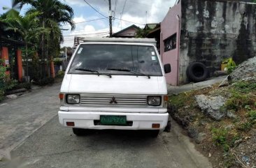
<svg viewBox="0 0 256 168"><path fill-rule="evenodd" d="M64 43L62 46L73 47L74 36L108 36L109 23L108 0L60 0L73 8L73 21L76 22L76 29L71 31L71 27L63 25ZM125 29L132 24L143 28L146 23L162 22L169 8L176 0L111 0L113 16L122 19L113 20L113 33ZM87 3L86 3L87 2ZM95 11L88 3L95 8ZM11 0L0 0L0 14L5 13L3 6L11 6ZM21 14L29 6L24 6ZM129 22L127 22L129 21ZM134 22L134 23L132 23Z"/></svg>

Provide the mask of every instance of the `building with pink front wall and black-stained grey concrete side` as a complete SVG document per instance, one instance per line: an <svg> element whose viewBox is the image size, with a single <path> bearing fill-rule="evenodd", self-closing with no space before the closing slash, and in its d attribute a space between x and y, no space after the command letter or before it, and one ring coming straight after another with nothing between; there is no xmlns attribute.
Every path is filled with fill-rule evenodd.
<svg viewBox="0 0 256 168"><path fill-rule="evenodd" d="M208 77L223 59L236 63L255 56L255 3L224 0L180 0L161 22L160 53L171 63L168 84L189 82L187 67L203 63Z"/></svg>

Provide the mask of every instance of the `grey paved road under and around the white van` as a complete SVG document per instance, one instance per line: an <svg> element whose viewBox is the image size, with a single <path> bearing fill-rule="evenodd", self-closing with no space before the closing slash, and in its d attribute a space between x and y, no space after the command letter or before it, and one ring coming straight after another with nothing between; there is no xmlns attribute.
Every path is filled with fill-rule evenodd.
<svg viewBox="0 0 256 168"><path fill-rule="evenodd" d="M20 133L21 137L15 136L25 128L20 123L21 128L1 137L3 147L14 147L10 152L11 161L0 162L0 167L209 167L207 159L193 151L189 139L177 133L176 124L171 132L162 132L157 138L148 137L143 132L122 130L99 130L85 137L76 137L71 128L59 124L56 115L58 92L59 86L55 85L13 100L14 104L8 102L10 109L5 108L10 114L27 111L24 119L19 115L20 121L34 127L30 128L30 133L27 129ZM29 120L29 113L41 122L35 122L33 117ZM1 123L13 122L10 118L6 115L6 120L1 118ZM18 123L18 119L14 121ZM2 129L4 125L0 127ZM8 139L10 137L13 139ZM13 143L8 143L9 140Z"/></svg>

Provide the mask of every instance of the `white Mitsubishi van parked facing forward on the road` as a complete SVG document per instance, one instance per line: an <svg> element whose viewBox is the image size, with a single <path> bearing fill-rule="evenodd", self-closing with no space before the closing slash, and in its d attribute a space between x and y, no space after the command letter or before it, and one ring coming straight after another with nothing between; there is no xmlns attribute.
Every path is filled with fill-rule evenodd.
<svg viewBox="0 0 256 168"><path fill-rule="evenodd" d="M60 89L59 123L87 130L152 130L166 127L165 73L155 39L86 38L74 52Z"/></svg>

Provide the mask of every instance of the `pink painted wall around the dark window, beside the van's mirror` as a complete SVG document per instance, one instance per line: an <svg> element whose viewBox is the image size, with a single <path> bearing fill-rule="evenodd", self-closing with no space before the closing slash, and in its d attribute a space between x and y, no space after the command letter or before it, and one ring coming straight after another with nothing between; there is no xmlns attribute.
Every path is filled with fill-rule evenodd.
<svg viewBox="0 0 256 168"><path fill-rule="evenodd" d="M179 71L179 49L180 49L180 15L181 15L181 3L173 6L167 13L164 20L161 22L161 34L160 34L160 54L162 56L162 62L171 64L171 73L166 74L166 82L168 84L178 85L178 71ZM172 49L168 52L164 52L164 40L169 38L173 34L177 33L176 49Z"/></svg>

